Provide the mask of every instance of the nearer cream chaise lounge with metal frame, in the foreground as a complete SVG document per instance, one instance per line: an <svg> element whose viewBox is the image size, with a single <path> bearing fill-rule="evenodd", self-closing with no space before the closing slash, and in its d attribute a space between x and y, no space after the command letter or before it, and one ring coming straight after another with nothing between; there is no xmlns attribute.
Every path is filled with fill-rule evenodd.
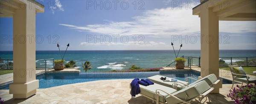
<svg viewBox="0 0 256 104"><path fill-rule="evenodd" d="M196 98L201 102L202 99L206 97L205 101L207 101L207 95L213 89L214 88L210 87L206 81L198 82L178 91L171 87L155 83L149 86L140 85L140 94L152 99L153 102L156 101L157 104L190 104L195 101Z"/></svg>

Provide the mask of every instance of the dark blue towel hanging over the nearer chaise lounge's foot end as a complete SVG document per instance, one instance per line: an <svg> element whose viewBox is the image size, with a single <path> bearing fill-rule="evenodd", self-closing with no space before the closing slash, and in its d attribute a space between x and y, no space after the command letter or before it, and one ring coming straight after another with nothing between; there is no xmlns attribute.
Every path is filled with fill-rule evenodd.
<svg viewBox="0 0 256 104"><path fill-rule="evenodd" d="M140 79L136 78L131 82L131 96L135 97L135 95L140 93L140 85L138 84L138 81L140 81Z"/></svg>

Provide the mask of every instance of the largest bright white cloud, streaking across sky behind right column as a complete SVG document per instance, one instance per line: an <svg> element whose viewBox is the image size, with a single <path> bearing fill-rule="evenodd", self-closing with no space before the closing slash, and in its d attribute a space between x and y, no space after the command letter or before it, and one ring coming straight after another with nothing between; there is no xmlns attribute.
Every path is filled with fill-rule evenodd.
<svg viewBox="0 0 256 104"><path fill-rule="evenodd" d="M154 37L171 37L172 35L200 34L200 18L192 15L191 9L161 8L147 10L140 16L132 17L133 21L108 21L102 24L86 26L67 26L76 31L87 31L98 34L151 35ZM220 21L220 32L244 33L255 32L255 21L230 22Z"/></svg>

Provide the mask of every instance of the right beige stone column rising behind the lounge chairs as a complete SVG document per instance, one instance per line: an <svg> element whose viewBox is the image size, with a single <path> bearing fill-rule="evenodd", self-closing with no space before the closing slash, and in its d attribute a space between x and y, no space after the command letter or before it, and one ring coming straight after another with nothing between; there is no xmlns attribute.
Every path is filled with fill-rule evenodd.
<svg viewBox="0 0 256 104"><path fill-rule="evenodd" d="M219 77L219 21L216 13L208 8L201 9L201 77L214 73ZM200 79L200 78L199 78ZM222 84L221 84L222 87ZM219 93L215 88L212 93Z"/></svg>

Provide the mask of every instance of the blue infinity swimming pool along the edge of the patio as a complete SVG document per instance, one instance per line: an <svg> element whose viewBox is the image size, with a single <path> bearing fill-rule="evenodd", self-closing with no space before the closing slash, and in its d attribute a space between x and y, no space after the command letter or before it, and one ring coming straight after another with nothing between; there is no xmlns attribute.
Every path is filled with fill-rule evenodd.
<svg viewBox="0 0 256 104"><path fill-rule="evenodd" d="M65 84L90 82L109 79L146 79L150 76L162 75L173 79L185 81L186 77L198 79L200 73L195 70L171 71L171 72L102 72L102 73L47 73L36 77L39 80L39 88L49 88ZM195 82L189 80L189 84ZM223 83L225 84L225 82ZM0 90L9 89L9 85L0 87Z"/></svg>

